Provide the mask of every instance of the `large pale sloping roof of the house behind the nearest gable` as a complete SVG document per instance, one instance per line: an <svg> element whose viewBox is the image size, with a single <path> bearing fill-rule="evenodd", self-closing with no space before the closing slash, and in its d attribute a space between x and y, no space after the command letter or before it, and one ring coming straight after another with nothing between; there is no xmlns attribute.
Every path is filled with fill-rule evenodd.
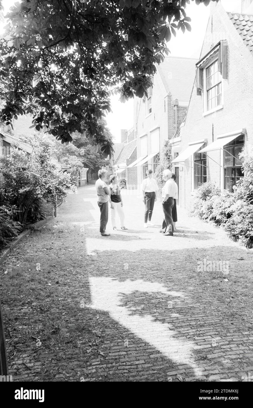
<svg viewBox="0 0 253 408"><path fill-rule="evenodd" d="M157 66L166 91L178 99L180 105L187 106L190 101L197 62L194 58L166 57Z"/></svg>

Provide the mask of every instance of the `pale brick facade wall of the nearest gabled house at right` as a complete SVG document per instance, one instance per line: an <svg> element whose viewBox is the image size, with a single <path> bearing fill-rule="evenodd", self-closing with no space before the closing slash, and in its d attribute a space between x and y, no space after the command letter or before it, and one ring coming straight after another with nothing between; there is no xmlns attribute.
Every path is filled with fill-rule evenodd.
<svg viewBox="0 0 253 408"><path fill-rule="evenodd" d="M203 116L203 93L196 94L194 86L185 126L181 128L182 151L194 140L207 139L207 144L216 140L217 135L246 128L246 151L251 151L253 143L253 56L242 42L227 13L220 4L212 7L207 32L201 52L203 57L213 44L227 40L228 76L223 80L223 109ZM224 170L221 169L222 151L208 153L207 181L212 180L222 186ZM192 191L194 173L191 168L193 157L185 162L180 171L179 193L181 206L189 207L194 197ZM217 163L216 163L217 162Z"/></svg>

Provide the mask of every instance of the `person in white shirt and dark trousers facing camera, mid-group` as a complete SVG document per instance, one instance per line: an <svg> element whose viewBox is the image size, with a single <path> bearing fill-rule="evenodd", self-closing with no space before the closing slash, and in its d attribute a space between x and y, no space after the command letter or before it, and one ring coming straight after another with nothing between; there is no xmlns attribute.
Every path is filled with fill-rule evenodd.
<svg viewBox="0 0 253 408"><path fill-rule="evenodd" d="M147 178L142 182L143 202L145 204L144 228L154 226L151 222L153 208L157 200L157 191L159 190L157 182L152 178L152 170L146 171Z"/></svg>

